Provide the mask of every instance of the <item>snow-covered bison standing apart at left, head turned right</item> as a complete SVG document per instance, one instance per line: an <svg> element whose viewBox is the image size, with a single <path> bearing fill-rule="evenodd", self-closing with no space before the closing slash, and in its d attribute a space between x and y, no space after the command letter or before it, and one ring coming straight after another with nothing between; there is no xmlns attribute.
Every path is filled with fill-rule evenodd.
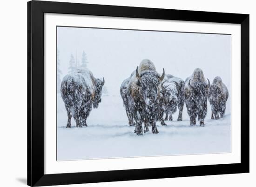
<svg viewBox="0 0 256 187"><path fill-rule="evenodd" d="M76 126L87 126L86 119L92 106L97 108L101 102L101 90L105 81L94 78L87 69L66 75L61 82L61 97L67 110L67 127L71 127L71 117Z"/></svg>

